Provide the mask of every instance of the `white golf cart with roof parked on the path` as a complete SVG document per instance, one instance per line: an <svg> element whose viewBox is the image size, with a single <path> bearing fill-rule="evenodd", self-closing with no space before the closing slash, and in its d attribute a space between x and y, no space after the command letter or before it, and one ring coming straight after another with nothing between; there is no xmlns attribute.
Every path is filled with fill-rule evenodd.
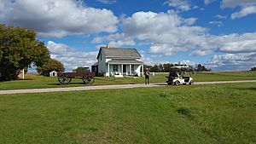
<svg viewBox="0 0 256 144"><path fill-rule="evenodd" d="M180 85L180 84L194 84L193 78L191 78L191 74L189 72L190 77L183 77L184 69L189 68L189 66L172 66L171 72L169 72L169 77L166 83L168 85ZM179 71L177 71L179 70Z"/></svg>

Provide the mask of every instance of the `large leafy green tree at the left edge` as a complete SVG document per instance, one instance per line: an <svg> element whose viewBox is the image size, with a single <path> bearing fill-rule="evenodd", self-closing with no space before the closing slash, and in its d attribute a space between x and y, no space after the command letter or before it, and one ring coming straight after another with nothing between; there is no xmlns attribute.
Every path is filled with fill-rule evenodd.
<svg viewBox="0 0 256 144"><path fill-rule="evenodd" d="M36 32L0 24L0 81L17 79L23 68L43 66L49 50L36 39Z"/></svg>

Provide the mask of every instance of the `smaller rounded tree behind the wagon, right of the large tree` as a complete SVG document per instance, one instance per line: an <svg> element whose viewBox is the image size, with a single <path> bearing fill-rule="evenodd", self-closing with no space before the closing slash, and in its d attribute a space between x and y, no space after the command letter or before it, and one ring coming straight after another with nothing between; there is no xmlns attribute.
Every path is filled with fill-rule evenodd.
<svg viewBox="0 0 256 144"><path fill-rule="evenodd" d="M37 71L44 76L49 76L49 72L64 72L65 68L60 61L49 59L43 66L38 66Z"/></svg>

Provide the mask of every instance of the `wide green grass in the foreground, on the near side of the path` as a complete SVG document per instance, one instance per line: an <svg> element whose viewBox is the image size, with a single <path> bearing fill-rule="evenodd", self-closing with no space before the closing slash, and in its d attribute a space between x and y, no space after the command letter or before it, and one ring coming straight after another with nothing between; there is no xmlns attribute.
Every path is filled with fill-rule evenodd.
<svg viewBox="0 0 256 144"><path fill-rule="evenodd" d="M255 92L241 83L0 95L0 143L256 143Z"/></svg>

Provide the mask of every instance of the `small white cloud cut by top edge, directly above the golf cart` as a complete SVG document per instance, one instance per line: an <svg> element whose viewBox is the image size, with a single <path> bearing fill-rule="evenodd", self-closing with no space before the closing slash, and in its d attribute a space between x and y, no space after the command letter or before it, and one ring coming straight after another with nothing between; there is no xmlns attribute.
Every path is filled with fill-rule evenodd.
<svg viewBox="0 0 256 144"><path fill-rule="evenodd" d="M167 0L165 4L180 11L188 11L191 9L191 5L188 0Z"/></svg>

